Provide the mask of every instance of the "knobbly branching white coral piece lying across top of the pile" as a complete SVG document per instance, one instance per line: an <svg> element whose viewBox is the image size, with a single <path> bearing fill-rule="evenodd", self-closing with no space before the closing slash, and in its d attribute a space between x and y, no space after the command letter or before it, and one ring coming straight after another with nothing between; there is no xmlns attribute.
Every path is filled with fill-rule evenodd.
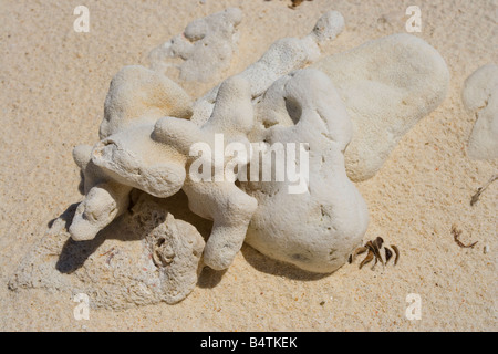
<svg viewBox="0 0 498 354"><path fill-rule="evenodd" d="M124 67L117 76L123 75L160 76L142 66ZM159 81L166 80L160 77ZM139 92L141 84L136 81L118 85L116 90L126 92L128 84L133 85L135 93ZM111 94L112 97L122 95L125 93ZM138 97L139 103L145 103L149 110L152 105L147 105L143 95L138 94ZM113 105L113 101L106 101L106 108ZM75 148L75 159L83 168L89 186L70 227L73 239L95 237L97 231L124 212L132 188L160 198L167 198L183 188L189 198L190 209L214 220L204 251L205 263L214 269L227 268L242 246L257 201L237 188L234 181L193 181L186 170L194 160L189 156L190 146L197 142L212 145L217 132L224 132L224 136L231 142L248 142L246 134L251 129L253 119L248 83L237 76L225 81L211 118L200 127L188 119L172 116L156 121L154 110L136 110L142 122L121 125L123 117L135 107L131 105L120 112L121 115L104 119L101 132L106 133L102 134L103 139L93 149ZM113 124L120 127L106 128Z"/></svg>

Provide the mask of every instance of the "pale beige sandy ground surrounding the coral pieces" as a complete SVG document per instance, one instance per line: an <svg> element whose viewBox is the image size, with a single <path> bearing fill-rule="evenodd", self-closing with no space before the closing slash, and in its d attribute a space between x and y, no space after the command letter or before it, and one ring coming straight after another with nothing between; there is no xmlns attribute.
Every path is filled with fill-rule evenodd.
<svg viewBox="0 0 498 354"><path fill-rule="evenodd" d="M498 171L467 157L475 118L460 91L477 67L498 62L495 0L290 1L0 1L0 330L1 331L497 331L495 183L470 207L477 187ZM73 9L90 9L89 33L73 30ZM282 37L302 37L326 10L346 29L329 54L404 32L405 9L422 9L422 33L446 60L447 98L404 136L382 170L359 184L370 209L365 236L382 236L402 254L396 267L346 264L326 277L302 273L248 246L225 273L205 270L176 305L91 310L73 316L69 293L8 290L21 258L48 222L81 200L71 152L97 138L112 76L148 65L147 53L196 18L242 9L239 51L227 75L256 61ZM212 84L185 88L198 96ZM450 227L463 230L459 248ZM484 247L488 252L484 252ZM406 296L419 294L422 319L408 320Z"/></svg>

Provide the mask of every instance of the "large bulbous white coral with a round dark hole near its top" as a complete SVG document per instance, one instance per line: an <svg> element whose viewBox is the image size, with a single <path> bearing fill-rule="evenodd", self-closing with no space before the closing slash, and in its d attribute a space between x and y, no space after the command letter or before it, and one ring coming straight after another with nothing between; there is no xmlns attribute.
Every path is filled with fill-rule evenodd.
<svg viewBox="0 0 498 354"><path fill-rule="evenodd" d="M353 126L330 79L318 70L283 76L269 92L261 105L269 100L273 116L294 124L272 125L259 136L270 144L309 144L309 187L303 194L289 194L290 180L242 183L241 188L258 199L246 241L301 269L332 272L361 242L369 222L366 204L344 168L343 152Z"/></svg>

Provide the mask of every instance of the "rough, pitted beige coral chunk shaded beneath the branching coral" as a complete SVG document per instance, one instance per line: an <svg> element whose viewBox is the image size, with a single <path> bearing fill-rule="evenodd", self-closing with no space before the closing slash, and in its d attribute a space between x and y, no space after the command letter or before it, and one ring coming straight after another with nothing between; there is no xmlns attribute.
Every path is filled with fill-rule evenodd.
<svg viewBox="0 0 498 354"><path fill-rule="evenodd" d="M209 222L185 215L183 195L159 199L135 189L129 205L122 218L84 242L68 233L71 206L21 260L9 289L85 293L92 308L112 310L184 300L204 266L205 241L193 223L206 233Z"/></svg>

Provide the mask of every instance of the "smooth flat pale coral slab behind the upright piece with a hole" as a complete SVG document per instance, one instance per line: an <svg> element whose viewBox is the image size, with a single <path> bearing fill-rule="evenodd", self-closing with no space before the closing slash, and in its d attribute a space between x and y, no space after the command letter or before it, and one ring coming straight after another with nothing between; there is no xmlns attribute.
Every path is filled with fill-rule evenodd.
<svg viewBox="0 0 498 354"><path fill-rule="evenodd" d="M311 65L332 80L353 122L347 176L373 177L418 121L446 97L449 72L439 53L411 34L393 34Z"/></svg>

